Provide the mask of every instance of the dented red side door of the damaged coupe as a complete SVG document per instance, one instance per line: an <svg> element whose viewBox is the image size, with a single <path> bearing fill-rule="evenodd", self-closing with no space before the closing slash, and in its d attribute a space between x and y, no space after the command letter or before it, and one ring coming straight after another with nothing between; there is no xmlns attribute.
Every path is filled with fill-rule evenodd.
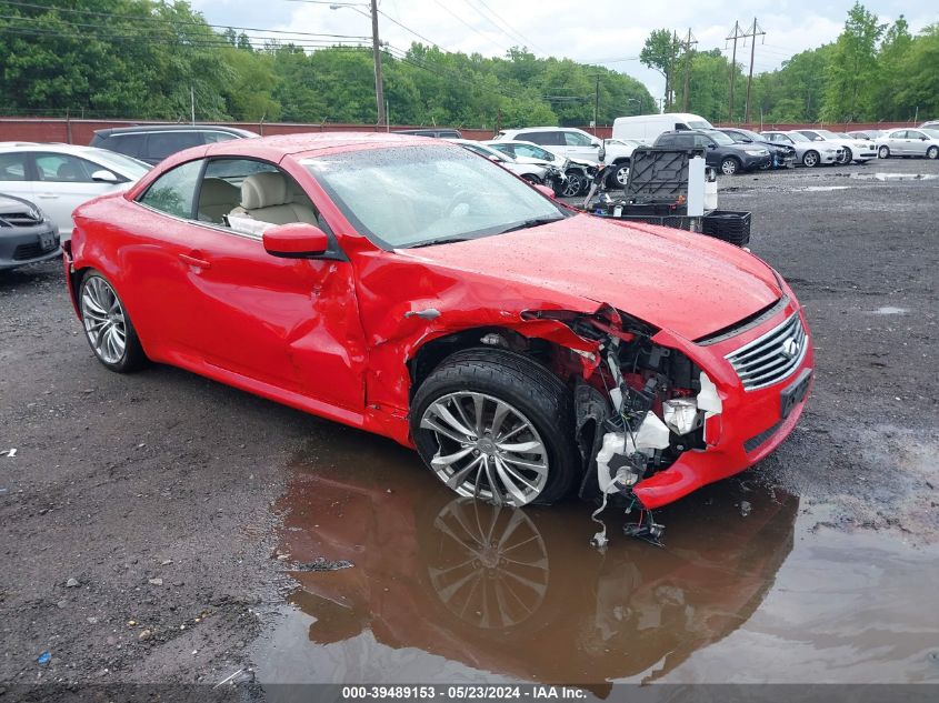
<svg viewBox="0 0 939 703"><path fill-rule="evenodd" d="M254 159L212 159L199 177L176 263L189 314L200 321L187 332L187 345L206 363L251 379L259 392L274 386L361 411L364 338L351 264L273 257L260 233L197 220L204 183L240 189L244 178L264 172L283 175L291 198L309 202L291 177ZM262 213L252 217L264 222Z"/></svg>

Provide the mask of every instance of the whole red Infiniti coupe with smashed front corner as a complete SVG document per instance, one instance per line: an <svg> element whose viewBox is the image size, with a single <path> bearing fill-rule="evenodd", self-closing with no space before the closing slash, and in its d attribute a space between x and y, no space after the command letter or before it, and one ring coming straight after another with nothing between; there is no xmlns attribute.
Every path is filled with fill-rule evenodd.
<svg viewBox="0 0 939 703"><path fill-rule="evenodd" d="M453 491L653 509L792 430L792 291L723 242L555 202L460 147L298 134L180 152L74 213L94 354L174 364L417 448Z"/></svg>

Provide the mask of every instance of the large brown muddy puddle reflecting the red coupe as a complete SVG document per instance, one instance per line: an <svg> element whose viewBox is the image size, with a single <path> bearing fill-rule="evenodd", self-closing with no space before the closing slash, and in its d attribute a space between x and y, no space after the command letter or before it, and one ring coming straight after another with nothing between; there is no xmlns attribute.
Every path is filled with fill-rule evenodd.
<svg viewBox="0 0 939 703"><path fill-rule="evenodd" d="M330 428L298 458L292 592L253 651L277 683L937 682L939 551L826 528L753 475L657 512L665 546L589 546L583 503L454 498L417 456ZM746 501L747 504L743 504ZM276 693L274 693L276 697Z"/></svg>

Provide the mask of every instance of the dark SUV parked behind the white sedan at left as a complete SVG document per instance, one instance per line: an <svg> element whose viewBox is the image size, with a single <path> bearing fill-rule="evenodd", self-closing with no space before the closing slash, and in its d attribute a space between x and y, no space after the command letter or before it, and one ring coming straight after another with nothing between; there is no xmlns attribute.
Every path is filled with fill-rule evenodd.
<svg viewBox="0 0 939 703"><path fill-rule="evenodd" d="M117 151L147 163L159 163L170 154L190 147L258 135L247 129L216 124L141 124L99 129L90 145Z"/></svg>

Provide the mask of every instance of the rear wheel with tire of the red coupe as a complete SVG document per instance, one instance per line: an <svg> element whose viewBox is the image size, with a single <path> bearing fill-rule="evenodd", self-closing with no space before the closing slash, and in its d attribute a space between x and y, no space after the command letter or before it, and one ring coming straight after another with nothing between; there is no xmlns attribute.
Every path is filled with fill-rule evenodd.
<svg viewBox="0 0 939 703"><path fill-rule="evenodd" d="M84 337L106 369L130 373L147 365L130 315L108 279L93 269L86 271L78 301Z"/></svg>

